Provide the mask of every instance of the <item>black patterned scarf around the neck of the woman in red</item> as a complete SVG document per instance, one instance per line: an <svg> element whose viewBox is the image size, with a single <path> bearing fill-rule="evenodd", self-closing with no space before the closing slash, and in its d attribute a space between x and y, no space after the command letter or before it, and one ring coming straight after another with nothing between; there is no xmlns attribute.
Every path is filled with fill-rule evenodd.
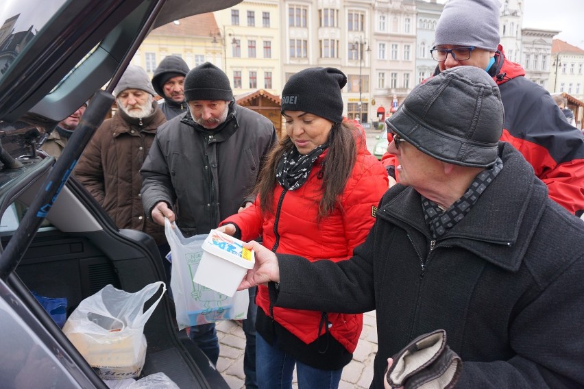
<svg viewBox="0 0 584 389"><path fill-rule="evenodd" d="M278 184L287 190L300 188L308 179L313 164L319 158L319 155L328 148L328 142L324 145L317 146L308 154L302 155L296 147L292 147L282 155L276 168L276 180Z"/></svg>

